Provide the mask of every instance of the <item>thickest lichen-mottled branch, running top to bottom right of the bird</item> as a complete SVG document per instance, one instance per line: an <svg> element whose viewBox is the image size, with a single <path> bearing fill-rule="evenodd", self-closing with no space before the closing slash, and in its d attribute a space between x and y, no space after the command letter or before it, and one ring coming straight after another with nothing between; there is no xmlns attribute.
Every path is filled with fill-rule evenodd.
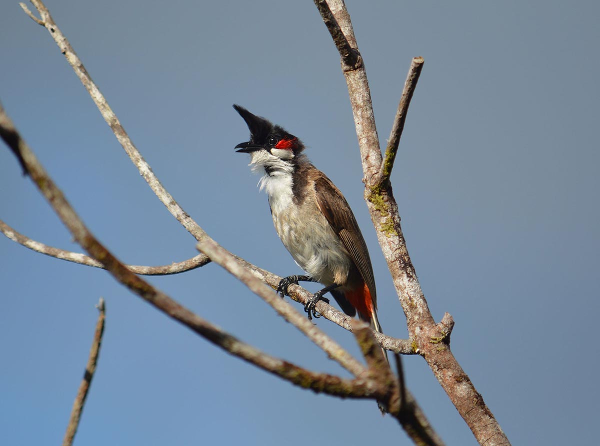
<svg viewBox="0 0 600 446"><path fill-rule="evenodd" d="M343 0L328 0L328 5L346 40L351 43L356 42L350 16ZM323 17L323 20L328 20L328 17ZM358 45L352 44L352 47L358 48ZM344 57L341 53L340 56ZM443 327L436 326L406 248L392 186L389 182L382 184L378 181L383 159L365 67L361 65L355 70L343 70L343 74L348 87L361 152L365 200L377 231L379 245L388 263L394 287L406 315L410 338L416 343L419 354L425 357L437 380L479 444L508 445L510 444L508 438L485 405L481 394L476 391L475 386L452 355L446 342L448 333L442 329Z"/></svg>

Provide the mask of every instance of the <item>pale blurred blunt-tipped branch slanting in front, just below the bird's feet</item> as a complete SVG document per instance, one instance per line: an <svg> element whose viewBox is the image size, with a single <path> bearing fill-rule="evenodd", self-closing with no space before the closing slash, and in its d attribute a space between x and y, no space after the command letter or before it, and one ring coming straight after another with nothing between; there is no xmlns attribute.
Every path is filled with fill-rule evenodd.
<svg viewBox="0 0 600 446"><path fill-rule="evenodd" d="M330 358L344 367L344 369L355 376L360 376L367 371L367 369L344 350L341 345L323 333L322 330L311 323L304 315L296 311L289 303L277 296L277 293L269 289L264 282L256 278L249 270L242 266L233 255L221 248L216 242L205 240L198 243L197 248L199 251L208 255L212 261L222 266L227 272L231 273L244 283L262 300L271 305L279 315L304 333L308 339L312 340L319 348L325 351Z"/></svg>

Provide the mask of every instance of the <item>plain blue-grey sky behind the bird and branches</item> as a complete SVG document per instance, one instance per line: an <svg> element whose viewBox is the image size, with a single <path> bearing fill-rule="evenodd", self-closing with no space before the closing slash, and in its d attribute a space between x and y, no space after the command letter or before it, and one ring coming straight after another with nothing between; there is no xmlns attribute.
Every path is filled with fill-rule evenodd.
<svg viewBox="0 0 600 446"><path fill-rule="evenodd" d="M231 105L302 138L361 225L385 332L407 336L362 199L339 57L313 2L47 6L179 204L227 249L279 275L300 270L275 234L247 155L233 150L248 130ZM456 321L455 357L512 444L595 444L598 2L350 0L347 7L382 143L410 60L425 58L392 183L431 312ZM0 101L94 234L126 263L196 255L193 237L139 176L46 29L16 1L0 5L0 58ZM6 149L0 190L7 224L81 251ZM267 375L102 270L5 237L0 265L0 444L61 441L100 296L106 332L76 444L409 444L375 403L316 395ZM149 281L270 354L344 373L214 264ZM317 324L358 354L350 333ZM425 361L404 364L446 444L475 445Z"/></svg>

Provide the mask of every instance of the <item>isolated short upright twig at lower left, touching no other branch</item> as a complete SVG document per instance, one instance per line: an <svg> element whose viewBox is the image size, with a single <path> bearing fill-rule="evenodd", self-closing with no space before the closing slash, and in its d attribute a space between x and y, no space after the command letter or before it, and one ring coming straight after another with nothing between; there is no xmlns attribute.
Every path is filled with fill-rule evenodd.
<svg viewBox="0 0 600 446"><path fill-rule="evenodd" d="M71 446L73 444L73 438L77 433L77 427L79 427L79 419L81 417L81 412L83 411L83 405L85 405L85 399L88 396L89 386L92 384L92 378L94 378L96 365L98 364L98 355L100 355L102 335L104 334L104 319L106 317L104 299L101 297L98 305L96 305L96 308L98 308L100 314L98 315L98 322L96 323L94 340L92 341L92 348L89 351L88 364L85 366L83 380L79 385L77 396L73 402L73 409L71 409L71 417L67 426L67 432L65 432L65 438L62 440L62 446Z"/></svg>

